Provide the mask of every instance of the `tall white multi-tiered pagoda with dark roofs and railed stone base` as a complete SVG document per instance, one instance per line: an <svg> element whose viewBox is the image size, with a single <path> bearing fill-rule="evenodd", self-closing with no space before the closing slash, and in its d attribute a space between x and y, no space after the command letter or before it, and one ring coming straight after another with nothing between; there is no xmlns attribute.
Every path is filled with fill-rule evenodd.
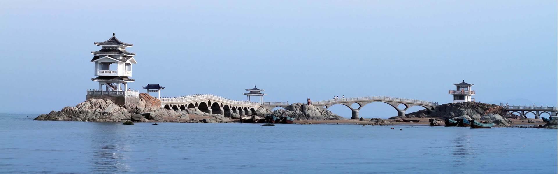
<svg viewBox="0 0 558 174"><path fill-rule="evenodd" d="M101 46L101 50L92 51L95 63L95 76L93 81L99 82L99 89L87 90L86 99L101 98L110 99L117 104L134 103L138 100L138 91L128 88L128 83L133 82L132 64L136 64L134 53L126 51L132 47L131 43L124 43L118 38L112 37L104 42L94 42Z"/></svg>

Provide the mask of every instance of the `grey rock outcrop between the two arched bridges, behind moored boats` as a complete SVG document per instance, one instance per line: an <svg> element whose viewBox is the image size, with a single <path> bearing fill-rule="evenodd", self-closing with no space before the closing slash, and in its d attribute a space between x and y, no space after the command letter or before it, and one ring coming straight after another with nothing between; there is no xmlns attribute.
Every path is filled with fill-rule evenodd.
<svg viewBox="0 0 558 174"><path fill-rule="evenodd" d="M259 109L258 109L259 110ZM277 109L272 113L276 117L295 117L296 120L345 120L345 118L331 113L330 110L314 107L314 105L294 103L283 109Z"/></svg>

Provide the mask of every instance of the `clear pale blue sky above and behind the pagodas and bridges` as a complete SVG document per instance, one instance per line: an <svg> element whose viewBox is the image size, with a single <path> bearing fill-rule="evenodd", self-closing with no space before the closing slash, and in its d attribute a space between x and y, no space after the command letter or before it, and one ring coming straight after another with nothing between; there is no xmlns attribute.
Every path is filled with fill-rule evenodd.
<svg viewBox="0 0 558 174"><path fill-rule="evenodd" d="M93 42L113 32L137 54L128 86L161 84L162 96L245 100L257 85L266 101L443 104L465 80L479 102L551 106L557 20L556 1L0 1L0 113L84 101L98 88ZM396 115L384 103L360 110Z"/></svg>

